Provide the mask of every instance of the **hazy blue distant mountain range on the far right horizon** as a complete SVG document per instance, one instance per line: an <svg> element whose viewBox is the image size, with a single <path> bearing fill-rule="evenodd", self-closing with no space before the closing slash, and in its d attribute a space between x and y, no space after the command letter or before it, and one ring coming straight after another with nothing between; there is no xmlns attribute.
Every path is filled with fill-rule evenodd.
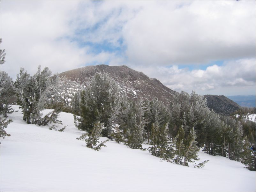
<svg viewBox="0 0 256 192"><path fill-rule="evenodd" d="M242 107L255 107L255 95L233 95L227 98L235 101L238 105Z"/></svg>

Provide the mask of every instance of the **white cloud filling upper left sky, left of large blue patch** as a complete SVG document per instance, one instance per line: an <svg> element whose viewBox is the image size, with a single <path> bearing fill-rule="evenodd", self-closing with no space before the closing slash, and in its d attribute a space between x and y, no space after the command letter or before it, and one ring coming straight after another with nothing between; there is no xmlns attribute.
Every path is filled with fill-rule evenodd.
<svg viewBox="0 0 256 192"><path fill-rule="evenodd" d="M11 77L24 67L34 73L38 65L48 66L53 73L85 66L103 64L115 53L91 53L90 47L80 47L73 41L72 16L80 2L1 1L1 49L6 50L6 63L1 66Z"/></svg>

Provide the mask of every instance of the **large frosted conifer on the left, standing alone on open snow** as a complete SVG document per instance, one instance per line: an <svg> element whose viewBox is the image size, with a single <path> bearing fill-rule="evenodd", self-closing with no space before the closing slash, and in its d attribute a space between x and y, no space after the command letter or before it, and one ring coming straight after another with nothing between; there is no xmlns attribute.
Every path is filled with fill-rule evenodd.
<svg viewBox="0 0 256 192"><path fill-rule="evenodd" d="M29 75L24 68L21 68L15 82L17 104L20 105L23 113L23 120L26 123L36 124L41 119L40 111L44 108L46 92L50 87L51 71L45 67L33 76Z"/></svg>

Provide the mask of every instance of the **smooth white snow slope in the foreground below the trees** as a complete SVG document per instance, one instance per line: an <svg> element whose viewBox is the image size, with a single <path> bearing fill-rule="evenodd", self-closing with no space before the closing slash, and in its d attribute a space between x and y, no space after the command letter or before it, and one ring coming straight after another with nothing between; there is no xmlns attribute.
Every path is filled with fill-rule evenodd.
<svg viewBox="0 0 256 192"><path fill-rule="evenodd" d="M76 140L83 132L72 114L60 115L64 132L28 125L20 111L9 118L11 137L1 138L1 191L255 191L255 172L228 158L199 152L200 162L210 161L193 168L114 141L94 151Z"/></svg>

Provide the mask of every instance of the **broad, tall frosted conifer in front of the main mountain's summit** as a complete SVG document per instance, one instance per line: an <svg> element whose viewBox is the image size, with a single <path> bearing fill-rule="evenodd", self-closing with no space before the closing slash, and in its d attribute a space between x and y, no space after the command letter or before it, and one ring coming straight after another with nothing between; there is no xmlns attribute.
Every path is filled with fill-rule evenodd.
<svg viewBox="0 0 256 192"><path fill-rule="evenodd" d="M91 133L94 122L104 124L103 137L110 137L121 109L120 88L114 79L96 73L91 84L81 92L80 115L75 117L79 129Z"/></svg>

